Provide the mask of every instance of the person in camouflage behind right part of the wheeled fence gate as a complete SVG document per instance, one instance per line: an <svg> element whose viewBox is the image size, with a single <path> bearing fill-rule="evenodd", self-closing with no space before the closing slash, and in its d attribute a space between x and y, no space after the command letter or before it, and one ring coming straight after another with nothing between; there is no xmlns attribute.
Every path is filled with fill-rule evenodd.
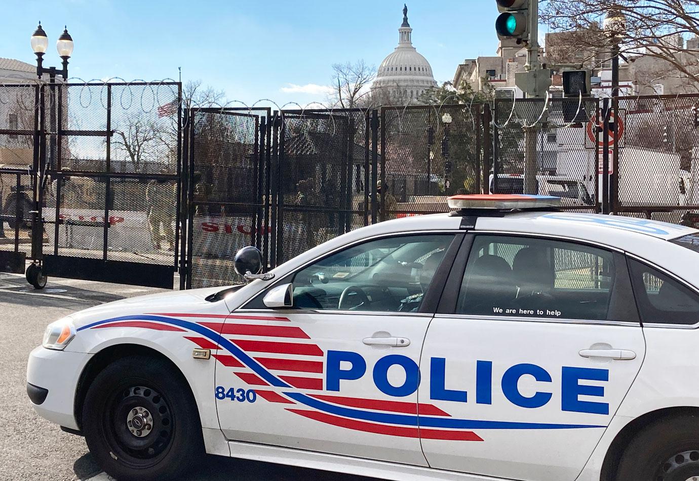
<svg viewBox="0 0 699 481"><path fill-rule="evenodd" d="M168 242L168 250L175 250L175 233L173 232L175 193L175 186L167 179L152 180L145 189L150 234L156 250L161 249L160 242L163 238Z"/></svg>

